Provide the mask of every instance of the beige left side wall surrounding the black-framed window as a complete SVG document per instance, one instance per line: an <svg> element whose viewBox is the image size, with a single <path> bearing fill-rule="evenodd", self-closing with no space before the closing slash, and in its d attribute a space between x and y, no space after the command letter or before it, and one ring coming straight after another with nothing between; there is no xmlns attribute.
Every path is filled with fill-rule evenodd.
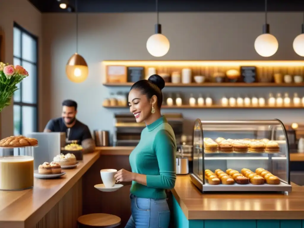
<svg viewBox="0 0 304 228"><path fill-rule="evenodd" d="M30 33L38 36L39 42L39 75L42 75L42 15L26 0L0 0L0 28L5 33L4 61L13 64L13 24L17 22ZM41 89L43 80L39 78ZM41 91L41 90L40 90ZM39 95L39 104L43 96ZM42 113L41 105L39 112ZM40 119L41 120L41 119ZM13 106L10 105L1 112L0 135L2 138L13 135ZM40 124L41 126L42 124Z"/></svg>

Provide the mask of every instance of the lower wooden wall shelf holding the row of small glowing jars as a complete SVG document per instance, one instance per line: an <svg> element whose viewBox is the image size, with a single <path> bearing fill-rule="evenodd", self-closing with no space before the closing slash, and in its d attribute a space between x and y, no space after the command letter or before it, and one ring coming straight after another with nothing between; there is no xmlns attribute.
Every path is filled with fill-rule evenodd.
<svg viewBox="0 0 304 228"><path fill-rule="evenodd" d="M103 106L104 108L109 109L122 109L122 108L129 108L128 106ZM264 106L264 107L231 107L231 106L221 106L221 105L212 105L212 106L190 106L190 105L182 105L182 106L168 106L162 105L162 109L304 109L303 106L289 106L289 107L271 107L271 106Z"/></svg>

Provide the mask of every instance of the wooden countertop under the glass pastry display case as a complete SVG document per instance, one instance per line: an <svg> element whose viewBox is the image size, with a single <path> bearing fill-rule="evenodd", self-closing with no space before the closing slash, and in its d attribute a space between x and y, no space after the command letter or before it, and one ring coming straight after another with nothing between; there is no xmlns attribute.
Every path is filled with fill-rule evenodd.
<svg viewBox="0 0 304 228"><path fill-rule="evenodd" d="M189 175L171 190L187 219L304 219L304 187L284 194L202 194Z"/></svg>

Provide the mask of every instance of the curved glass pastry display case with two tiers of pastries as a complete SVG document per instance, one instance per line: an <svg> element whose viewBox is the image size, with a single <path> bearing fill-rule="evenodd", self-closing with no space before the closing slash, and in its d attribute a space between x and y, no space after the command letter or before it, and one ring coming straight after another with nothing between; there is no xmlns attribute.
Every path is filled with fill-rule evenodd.
<svg viewBox="0 0 304 228"><path fill-rule="evenodd" d="M278 119L196 119L192 159L191 180L202 192L292 190L288 137Z"/></svg>

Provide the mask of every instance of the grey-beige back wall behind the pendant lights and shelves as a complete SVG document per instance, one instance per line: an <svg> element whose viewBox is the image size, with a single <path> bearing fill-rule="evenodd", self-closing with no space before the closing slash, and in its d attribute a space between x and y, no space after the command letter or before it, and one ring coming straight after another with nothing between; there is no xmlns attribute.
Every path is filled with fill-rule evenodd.
<svg viewBox="0 0 304 228"><path fill-rule="evenodd" d="M302 13L269 13L271 33L279 42L273 60L300 60L292 50L292 41L300 33ZM85 57L89 77L81 83L68 81L65 64L75 52L75 16L43 14L43 77L50 86L50 112L44 119L60 116L61 101L72 98L79 104L78 119L90 130L113 130L113 113L128 110L102 108L102 101L112 91L129 88L102 86L103 60L153 60L146 50L147 38L154 33L154 13L83 13L79 15L78 53ZM264 13L161 13L163 33L170 40L170 50L160 60L263 60L254 50L254 40L261 34ZM177 92L180 88L167 88ZM237 94L268 95L272 92L299 92L302 88L182 88L183 93L209 93L219 99ZM178 110L170 110L177 111ZM164 110L165 112L165 110ZM282 119L304 123L302 110L182 110L189 120Z"/></svg>

